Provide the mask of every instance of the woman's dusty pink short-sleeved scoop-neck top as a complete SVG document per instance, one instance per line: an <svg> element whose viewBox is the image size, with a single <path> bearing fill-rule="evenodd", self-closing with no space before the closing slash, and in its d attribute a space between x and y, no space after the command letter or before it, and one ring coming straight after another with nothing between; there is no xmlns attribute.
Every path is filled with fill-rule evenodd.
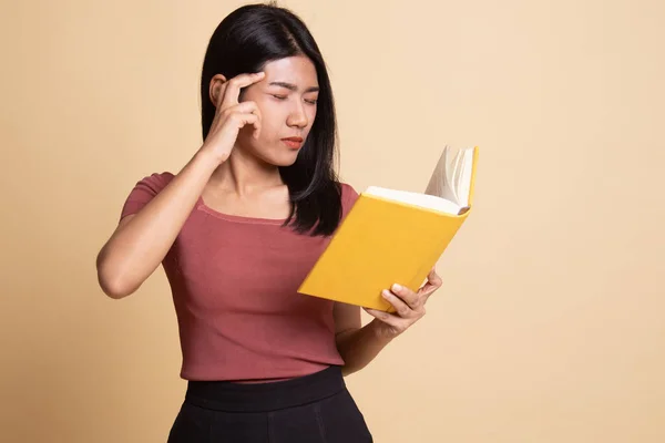
<svg viewBox="0 0 665 443"><path fill-rule="evenodd" d="M173 178L152 174L121 217L137 213ZM341 185L342 216L358 194ZM162 265L177 317L186 380L280 380L344 364L334 302L297 292L329 241L282 220L218 213L198 198Z"/></svg>

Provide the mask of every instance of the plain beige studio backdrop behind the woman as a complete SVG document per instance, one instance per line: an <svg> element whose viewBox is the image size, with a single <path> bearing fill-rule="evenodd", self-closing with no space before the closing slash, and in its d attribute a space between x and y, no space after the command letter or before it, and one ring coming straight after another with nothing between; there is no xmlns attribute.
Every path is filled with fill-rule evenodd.
<svg viewBox="0 0 665 443"><path fill-rule="evenodd" d="M3 2L0 441L165 441L166 279L114 301L94 258L134 183L200 145L205 44L239 4ZM665 441L665 3L283 4L330 65L357 189L482 150L428 316L348 379L376 440Z"/></svg>

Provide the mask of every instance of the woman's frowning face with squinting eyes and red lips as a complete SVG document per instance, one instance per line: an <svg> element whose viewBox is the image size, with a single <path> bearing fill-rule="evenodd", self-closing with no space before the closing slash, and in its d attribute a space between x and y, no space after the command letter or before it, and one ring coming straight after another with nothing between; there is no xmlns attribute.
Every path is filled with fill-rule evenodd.
<svg viewBox="0 0 665 443"><path fill-rule="evenodd" d="M254 126L241 130L237 147L276 166L291 165L316 117L318 81L316 68L303 55L268 62L265 78L249 85L241 101L253 101L260 112L260 133Z"/></svg>

